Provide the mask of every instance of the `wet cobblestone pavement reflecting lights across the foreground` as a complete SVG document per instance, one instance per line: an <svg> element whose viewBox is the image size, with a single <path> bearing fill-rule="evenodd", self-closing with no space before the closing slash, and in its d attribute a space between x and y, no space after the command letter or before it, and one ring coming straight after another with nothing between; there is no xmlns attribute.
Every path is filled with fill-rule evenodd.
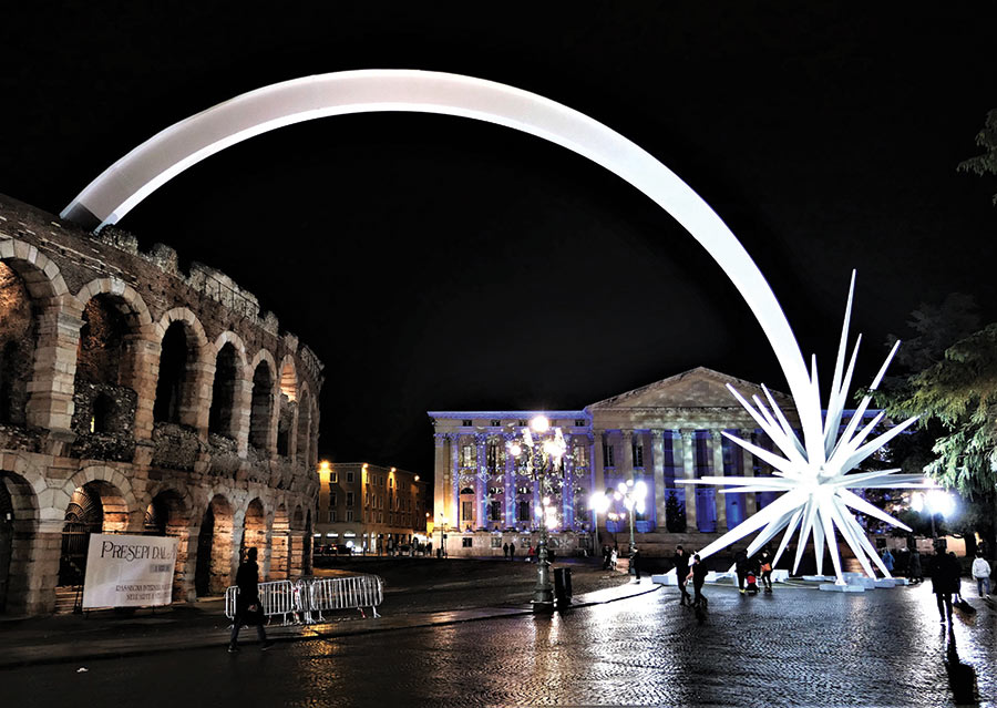
<svg viewBox="0 0 997 708"><path fill-rule="evenodd" d="M702 622L666 588L553 618L278 644L266 653L246 644L238 655L109 659L86 673L74 665L0 671L0 695L4 705L39 707L953 706L953 679L959 689L972 670L980 705L997 696L995 613L976 598L979 613L957 616L949 635L925 586L707 594Z"/></svg>

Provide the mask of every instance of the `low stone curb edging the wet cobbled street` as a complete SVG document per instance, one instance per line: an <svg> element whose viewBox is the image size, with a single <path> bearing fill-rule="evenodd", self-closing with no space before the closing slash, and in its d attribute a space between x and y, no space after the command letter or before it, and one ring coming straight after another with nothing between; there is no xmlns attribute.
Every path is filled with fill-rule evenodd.
<svg viewBox="0 0 997 708"><path fill-rule="evenodd" d="M643 595L648 595L650 593L658 592L661 588L660 585L655 585L654 583L649 584L649 586L641 586L640 592L629 593L627 595L620 595L617 597L610 597L608 599L598 599L592 602L583 602L578 604L571 605L571 609L584 609L586 607L593 607L596 605L607 605L609 603L619 602L623 599L631 599L634 597L640 597ZM600 592L600 591L595 591ZM453 613L460 612L473 612L473 610L443 610L439 613L429 613L434 615L451 615ZM523 606L521 609L516 608L500 608L492 607L486 608L483 614L476 616L467 616L467 617L441 617L440 619L433 620L432 618L426 619L425 622L417 622L415 624L404 625L404 626L377 626L377 625L368 625L358 629L351 630L336 630L335 623L323 623L319 625L306 625L302 627L295 627L294 634L288 635L275 635L268 637L271 642L287 644L291 642L316 642L316 640L327 640L335 639L341 637L353 637L353 636L362 636L369 634L380 634L384 632L400 632L405 629L425 629L429 627L443 627L446 625L458 625L464 624L467 622L482 622L486 619L505 619L506 617L523 617L527 615L532 615L533 610L528 607ZM325 627L329 627L325 629ZM279 628L279 627L278 627ZM177 643L175 646L169 646L168 644L156 644L152 646L136 646L121 649L109 649L104 651L91 651L89 654L74 654L73 656L60 656L58 654L47 654L44 650L47 648L55 648L60 645L52 645L49 647L39 646L38 649L40 651L40 656L37 657L21 657L16 658L13 660L4 661L0 659L0 671L16 668L23 668L27 666L42 666L42 665L53 665L53 664L73 664L73 663L82 663L84 661L94 661L102 659L122 659L134 656L145 656L150 654L165 654L167 651L183 651L187 649L206 649L212 647L225 647L228 645L228 639L222 638L216 639L214 636L207 636L202 642L192 642L185 640L182 644ZM64 645L62 645L64 646ZM255 642L253 644L244 645L247 649L251 649L255 646Z"/></svg>

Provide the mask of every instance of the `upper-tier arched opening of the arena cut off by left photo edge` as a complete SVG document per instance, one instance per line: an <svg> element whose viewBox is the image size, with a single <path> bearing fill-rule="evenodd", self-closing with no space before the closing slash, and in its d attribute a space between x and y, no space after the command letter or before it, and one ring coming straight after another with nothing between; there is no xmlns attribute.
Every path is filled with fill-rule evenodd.
<svg viewBox="0 0 997 708"><path fill-rule="evenodd" d="M25 424L37 337L28 287L13 268L0 263L0 424Z"/></svg>

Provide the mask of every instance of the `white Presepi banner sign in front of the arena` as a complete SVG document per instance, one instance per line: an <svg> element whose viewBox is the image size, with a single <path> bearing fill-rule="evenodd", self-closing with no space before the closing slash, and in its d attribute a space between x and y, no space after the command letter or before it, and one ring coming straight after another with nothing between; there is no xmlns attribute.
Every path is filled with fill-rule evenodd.
<svg viewBox="0 0 997 708"><path fill-rule="evenodd" d="M176 542L165 536L91 534L83 609L168 605Z"/></svg>

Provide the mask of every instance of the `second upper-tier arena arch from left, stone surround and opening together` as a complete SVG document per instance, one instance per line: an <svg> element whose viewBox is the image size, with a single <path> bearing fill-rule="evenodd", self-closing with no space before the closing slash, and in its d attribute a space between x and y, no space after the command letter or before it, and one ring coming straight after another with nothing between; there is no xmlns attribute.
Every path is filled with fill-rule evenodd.
<svg viewBox="0 0 997 708"><path fill-rule="evenodd" d="M80 437L79 454L96 456L88 454L89 444L96 443L100 456L130 461L140 393L147 396L150 389L148 308L134 288L117 278L91 280L75 299L82 321L72 420ZM112 439L117 444L111 444Z"/></svg>

